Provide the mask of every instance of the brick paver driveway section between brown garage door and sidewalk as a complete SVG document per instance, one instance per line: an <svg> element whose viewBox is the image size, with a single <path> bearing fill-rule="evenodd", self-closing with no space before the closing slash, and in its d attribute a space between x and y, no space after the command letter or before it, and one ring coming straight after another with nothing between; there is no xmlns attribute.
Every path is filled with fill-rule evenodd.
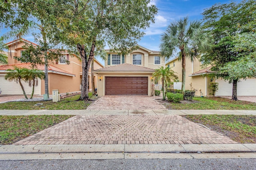
<svg viewBox="0 0 256 170"><path fill-rule="evenodd" d="M102 96L88 110L151 110L166 109L150 96Z"/></svg>

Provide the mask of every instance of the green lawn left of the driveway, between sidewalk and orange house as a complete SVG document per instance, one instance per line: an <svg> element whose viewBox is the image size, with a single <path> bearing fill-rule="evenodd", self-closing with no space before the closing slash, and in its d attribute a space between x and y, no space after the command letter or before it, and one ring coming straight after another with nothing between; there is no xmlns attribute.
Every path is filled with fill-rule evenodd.
<svg viewBox="0 0 256 170"><path fill-rule="evenodd" d="M60 102L49 101L38 101L38 102L7 102L0 104L0 109L24 109L24 110L38 110L38 109L48 109L48 110L65 110L65 109L86 109L92 101L74 101L77 100L80 95L67 97L61 99ZM89 93L89 97L92 94ZM37 103L42 103L43 105L34 106Z"/></svg>

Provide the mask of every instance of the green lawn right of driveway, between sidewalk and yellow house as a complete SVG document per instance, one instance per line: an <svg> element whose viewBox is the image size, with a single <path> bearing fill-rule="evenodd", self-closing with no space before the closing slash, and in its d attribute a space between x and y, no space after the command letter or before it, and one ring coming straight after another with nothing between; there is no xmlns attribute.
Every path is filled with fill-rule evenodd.
<svg viewBox="0 0 256 170"><path fill-rule="evenodd" d="M194 97L192 103L162 103L168 109L256 110L256 103L227 98Z"/></svg>

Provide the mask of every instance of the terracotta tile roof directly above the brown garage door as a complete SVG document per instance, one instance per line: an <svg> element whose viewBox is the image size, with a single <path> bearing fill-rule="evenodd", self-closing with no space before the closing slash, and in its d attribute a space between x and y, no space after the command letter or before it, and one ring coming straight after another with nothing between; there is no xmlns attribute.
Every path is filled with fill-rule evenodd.
<svg viewBox="0 0 256 170"><path fill-rule="evenodd" d="M152 68L147 68L147 67L143 67L143 66L137 66L134 64L118 64L118 65L114 65L114 66L109 66L109 67L104 67L104 68L100 68L97 70L94 70L94 72L96 71L135 71L135 72L139 72L139 71L145 71L145 72L154 72L155 70Z"/></svg>

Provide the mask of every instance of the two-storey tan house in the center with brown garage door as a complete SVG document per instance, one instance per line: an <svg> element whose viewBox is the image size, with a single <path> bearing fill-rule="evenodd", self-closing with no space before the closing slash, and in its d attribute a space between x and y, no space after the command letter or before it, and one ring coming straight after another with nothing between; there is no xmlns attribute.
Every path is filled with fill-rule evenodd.
<svg viewBox="0 0 256 170"><path fill-rule="evenodd" d="M105 67L98 74L98 95L151 95L154 69L165 67L159 51L142 46L129 54L106 50Z"/></svg>

